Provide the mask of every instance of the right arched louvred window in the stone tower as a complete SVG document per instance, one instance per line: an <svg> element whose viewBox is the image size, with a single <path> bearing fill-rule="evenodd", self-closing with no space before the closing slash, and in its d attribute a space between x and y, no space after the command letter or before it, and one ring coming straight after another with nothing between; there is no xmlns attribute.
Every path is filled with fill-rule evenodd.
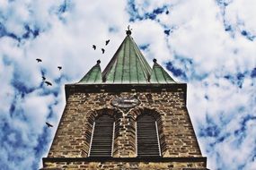
<svg viewBox="0 0 256 170"><path fill-rule="evenodd" d="M157 123L152 115L137 118L137 156L161 156Z"/></svg>

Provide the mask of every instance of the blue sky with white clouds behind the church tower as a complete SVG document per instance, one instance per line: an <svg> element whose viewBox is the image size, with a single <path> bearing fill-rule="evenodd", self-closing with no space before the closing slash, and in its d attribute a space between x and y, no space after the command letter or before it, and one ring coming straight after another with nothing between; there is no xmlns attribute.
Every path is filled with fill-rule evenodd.
<svg viewBox="0 0 256 170"><path fill-rule="evenodd" d="M147 61L157 58L175 81L188 83L207 167L256 169L255 6L255 0L0 0L1 168L42 166L65 106L64 84L79 81L98 59L103 69L130 25ZM108 38L104 55L93 51Z"/></svg>

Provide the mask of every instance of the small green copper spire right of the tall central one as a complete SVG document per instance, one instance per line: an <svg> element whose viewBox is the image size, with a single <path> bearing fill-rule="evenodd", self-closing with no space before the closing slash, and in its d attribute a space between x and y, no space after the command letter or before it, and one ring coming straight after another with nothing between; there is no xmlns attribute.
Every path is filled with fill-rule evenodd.
<svg viewBox="0 0 256 170"><path fill-rule="evenodd" d="M163 67L156 63L156 59L153 62L153 70L150 76L151 83L175 83L172 77L163 70Z"/></svg>

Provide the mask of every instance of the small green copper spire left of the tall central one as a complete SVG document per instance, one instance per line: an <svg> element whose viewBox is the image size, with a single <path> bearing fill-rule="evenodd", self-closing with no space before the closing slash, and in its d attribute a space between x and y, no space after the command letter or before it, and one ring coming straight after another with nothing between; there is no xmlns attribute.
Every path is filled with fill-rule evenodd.
<svg viewBox="0 0 256 170"><path fill-rule="evenodd" d="M101 69L101 61L98 60L97 64L93 66L93 68L87 72L83 79L78 82L78 84L96 84L102 83L102 69Z"/></svg>

